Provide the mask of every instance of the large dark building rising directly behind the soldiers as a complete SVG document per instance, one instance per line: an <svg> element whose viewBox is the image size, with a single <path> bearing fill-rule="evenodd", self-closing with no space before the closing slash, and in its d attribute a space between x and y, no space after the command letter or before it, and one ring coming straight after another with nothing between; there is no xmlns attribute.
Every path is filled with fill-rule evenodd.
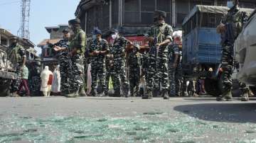
<svg viewBox="0 0 256 143"><path fill-rule="evenodd" d="M124 35L145 34L156 10L166 11L166 23L181 28L183 18L195 5L225 6L226 0L81 0L75 11L87 34L94 27L107 33L117 28ZM240 7L255 8L255 0L240 0Z"/></svg>

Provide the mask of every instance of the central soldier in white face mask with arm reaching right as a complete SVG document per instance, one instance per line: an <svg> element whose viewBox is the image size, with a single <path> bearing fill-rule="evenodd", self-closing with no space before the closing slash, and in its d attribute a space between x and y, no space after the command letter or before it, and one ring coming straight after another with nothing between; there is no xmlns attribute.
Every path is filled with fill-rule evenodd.
<svg viewBox="0 0 256 143"><path fill-rule="evenodd" d="M132 44L129 40L119 35L118 30L111 30L111 37L113 42L113 55L114 55L114 96L120 97L121 84L123 85L122 91L125 97L129 96L129 81L126 74L126 58L125 51L127 45Z"/></svg>

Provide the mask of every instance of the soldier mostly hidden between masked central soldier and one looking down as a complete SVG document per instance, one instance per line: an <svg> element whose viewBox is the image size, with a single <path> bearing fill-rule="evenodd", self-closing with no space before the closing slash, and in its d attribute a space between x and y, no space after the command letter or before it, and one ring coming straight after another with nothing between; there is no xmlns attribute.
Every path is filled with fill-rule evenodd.
<svg viewBox="0 0 256 143"><path fill-rule="evenodd" d="M111 77L113 86L115 86L113 83L113 80L114 80L114 55L112 52L112 45L110 45L110 52L108 52L106 55L106 81L105 81L105 85L106 85L105 95L106 96L108 95L108 91L109 91L110 77Z"/></svg>

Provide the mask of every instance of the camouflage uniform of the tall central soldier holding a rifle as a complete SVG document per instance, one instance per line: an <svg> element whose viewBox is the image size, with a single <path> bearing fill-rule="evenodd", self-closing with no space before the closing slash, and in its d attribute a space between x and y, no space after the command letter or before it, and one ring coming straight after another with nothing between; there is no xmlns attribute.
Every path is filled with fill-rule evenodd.
<svg viewBox="0 0 256 143"><path fill-rule="evenodd" d="M162 23L161 25L153 25L149 29L149 37L155 38L155 42L160 43L166 39L172 40L172 28L171 25ZM157 41L156 41L157 40ZM169 88L168 83L168 48L166 45L159 47L156 51L156 46L151 45L149 50L149 81L146 85L146 89L151 91L153 86L156 90L160 90L160 84L163 91L167 91ZM155 70L156 69L156 70ZM154 75L156 77L154 79Z"/></svg>

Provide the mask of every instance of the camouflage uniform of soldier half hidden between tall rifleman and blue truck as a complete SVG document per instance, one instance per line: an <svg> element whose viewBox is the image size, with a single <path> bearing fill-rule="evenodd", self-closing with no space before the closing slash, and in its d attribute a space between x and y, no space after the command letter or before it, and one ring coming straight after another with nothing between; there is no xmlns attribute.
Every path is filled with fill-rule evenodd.
<svg viewBox="0 0 256 143"><path fill-rule="evenodd" d="M178 61L177 61L177 67L173 67L175 56L178 55ZM168 56L168 71L169 71L169 83L170 83L170 94L169 96L176 96L178 93L178 87L176 85L178 84L178 78L176 78L177 69L179 66L179 50L178 45L169 45L169 56Z"/></svg>

